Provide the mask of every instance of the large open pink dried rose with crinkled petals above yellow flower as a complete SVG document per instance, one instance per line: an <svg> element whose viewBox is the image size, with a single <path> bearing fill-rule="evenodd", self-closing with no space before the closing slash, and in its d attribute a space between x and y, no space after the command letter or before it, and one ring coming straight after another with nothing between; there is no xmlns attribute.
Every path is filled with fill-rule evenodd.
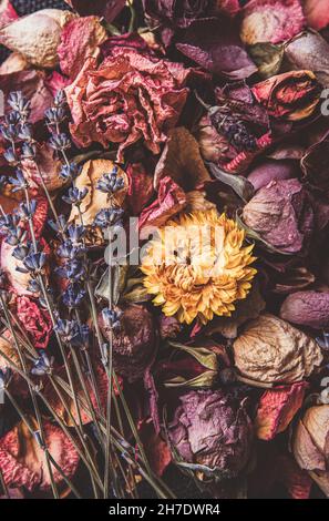
<svg viewBox="0 0 329 521"><path fill-rule="evenodd" d="M119 144L119 161L140 140L158 154L185 104L189 73L181 63L125 47L113 47L100 65L88 59L66 88L74 141L82 147Z"/></svg>

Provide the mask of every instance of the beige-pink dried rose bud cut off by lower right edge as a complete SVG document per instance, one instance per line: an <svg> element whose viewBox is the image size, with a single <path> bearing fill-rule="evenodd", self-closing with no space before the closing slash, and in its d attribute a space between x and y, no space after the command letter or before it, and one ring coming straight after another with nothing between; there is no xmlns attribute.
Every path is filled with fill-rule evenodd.
<svg viewBox="0 0 329 521"><path fill-rule="evenodd" d="M329 497L329 405L311 407L299 420L292 439L297 463Z"/></svg>

